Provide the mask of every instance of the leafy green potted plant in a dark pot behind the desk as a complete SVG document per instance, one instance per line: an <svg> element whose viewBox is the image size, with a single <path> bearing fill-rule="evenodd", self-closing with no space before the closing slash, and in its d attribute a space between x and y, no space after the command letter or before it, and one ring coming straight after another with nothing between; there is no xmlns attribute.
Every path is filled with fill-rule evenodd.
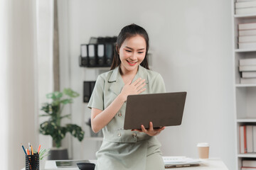
<svg viewBox="0 0 256 170"><path fill-rule="evenodd" d="M85 132L80 126L75 124L61 124L63 118L70 118L71 115L61 114L64 106L73 103L73 98L78 96L79 94L72 89L64 89L63 92L55 91L46 94L46 98L51 99L51 102L44 103L41 108L44 114L41 116L47 116L49 119L41 123L39 132L43 135L50 135L53 138L53 147L55 148L50 149L49 159L68 159L68 150L60 148L61 140L63 140L67 132L70 132L79 141L82 141L84 137Z"/></svg>

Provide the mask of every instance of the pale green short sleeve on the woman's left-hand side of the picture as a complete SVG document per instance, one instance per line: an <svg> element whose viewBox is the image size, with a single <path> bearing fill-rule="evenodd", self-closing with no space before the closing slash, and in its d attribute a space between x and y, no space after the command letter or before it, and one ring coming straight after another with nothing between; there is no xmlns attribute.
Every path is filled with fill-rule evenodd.
<svg viewBox="0 0 256 170"><path fill-rule="evenodd" d="M92 96L90 97L90 101L87 105L88 108L97 108L103 111L104 108L104 84L105 81L102 77L98 76L95 87L92 91Z"/></svg>

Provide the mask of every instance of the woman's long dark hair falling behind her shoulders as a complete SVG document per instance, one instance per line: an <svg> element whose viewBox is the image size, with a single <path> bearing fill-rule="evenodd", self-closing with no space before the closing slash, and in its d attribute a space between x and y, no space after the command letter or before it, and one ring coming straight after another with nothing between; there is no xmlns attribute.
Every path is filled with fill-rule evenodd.
<svg viewBox="0 0 256 170"><path fill-rule="evenodd" d="M146 41L146 54L145 54L144 60L140 65L146 69L149 69L149 64L147 61L147 52L149 50L149 35L146 33L146 30L144 30L144 28L132 23L131 25L125 26L124 28L122 28L121 32L117 37L117 42L114 47L114 57L113 57L110 70L114 69L115 67L118 67L119 64L121 64L121 60L119 58L119 54L117 50L120 49L124 40L130 37L133 37L135 35L141 35Z"/></svg>

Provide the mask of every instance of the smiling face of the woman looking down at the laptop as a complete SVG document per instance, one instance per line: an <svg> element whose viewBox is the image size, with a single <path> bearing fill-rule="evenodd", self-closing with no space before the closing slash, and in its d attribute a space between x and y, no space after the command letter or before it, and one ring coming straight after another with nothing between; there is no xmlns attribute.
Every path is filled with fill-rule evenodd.
<svg viewBox="0 0 256 170"><path fill-rule="evenodd" d="M127 38L119 49L122 73L137 72L146 55L146 41L141 35Z"/></svg>

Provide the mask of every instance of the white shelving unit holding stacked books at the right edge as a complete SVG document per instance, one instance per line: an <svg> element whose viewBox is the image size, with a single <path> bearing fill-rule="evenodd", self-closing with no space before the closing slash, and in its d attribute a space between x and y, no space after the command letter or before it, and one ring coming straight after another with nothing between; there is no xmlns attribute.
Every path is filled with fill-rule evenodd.
<svg viewBox="0 0 256 170"><path fill-rule="evenodd" d="M240 154L239 126L256 125L256 84L240 84L239 60L256 58L255 49L238 49L238 24L256 22L256 13L235 15L235 2L232 1L233 24L233 76L235 93L235 146L236 169L240 170L243 159L256 159L256 153Z"/></svg>

